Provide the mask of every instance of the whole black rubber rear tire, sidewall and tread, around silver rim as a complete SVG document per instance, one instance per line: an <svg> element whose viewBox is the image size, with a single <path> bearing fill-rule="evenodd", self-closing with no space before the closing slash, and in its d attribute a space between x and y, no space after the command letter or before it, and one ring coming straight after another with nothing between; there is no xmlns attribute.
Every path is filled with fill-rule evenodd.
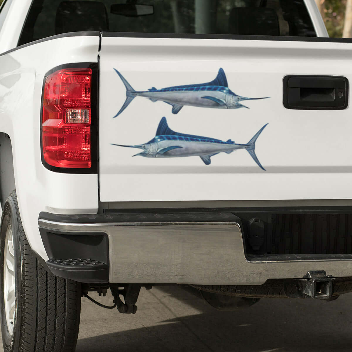
<svg viewBox="0 0 352 352"><path fill-rule="evenodd" d="M12 227L15 256L15 318L9 333L4 301L4 249ZM0 231L0 308L4 352L73 352L81 313L81 285L46 271L33 255L18 210L16 192L6 200Z"/></svg>

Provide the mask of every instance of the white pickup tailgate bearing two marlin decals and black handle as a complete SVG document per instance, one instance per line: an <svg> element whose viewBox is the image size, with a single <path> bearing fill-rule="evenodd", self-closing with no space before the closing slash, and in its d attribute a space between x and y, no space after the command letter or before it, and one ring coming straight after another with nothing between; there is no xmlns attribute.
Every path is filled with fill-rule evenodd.
<svg viewBox="0 0 352 352"><path fill-rule="evenodd" d="M346 77L348 98L352 44L314 39L103 33L100 200L352 199L349 107L283 104L288 75Z"/></svg>

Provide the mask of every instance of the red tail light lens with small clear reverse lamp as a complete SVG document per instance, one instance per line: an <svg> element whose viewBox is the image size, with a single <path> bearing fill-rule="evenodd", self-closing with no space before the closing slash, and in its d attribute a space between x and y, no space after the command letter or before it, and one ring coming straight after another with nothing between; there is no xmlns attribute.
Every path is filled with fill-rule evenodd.
<svg viewBox="0 0 352 352"><path fill-rule="evenodd" d="M91 69L62 69L44 84L42 146L46 163L90 168Z"/></svg>

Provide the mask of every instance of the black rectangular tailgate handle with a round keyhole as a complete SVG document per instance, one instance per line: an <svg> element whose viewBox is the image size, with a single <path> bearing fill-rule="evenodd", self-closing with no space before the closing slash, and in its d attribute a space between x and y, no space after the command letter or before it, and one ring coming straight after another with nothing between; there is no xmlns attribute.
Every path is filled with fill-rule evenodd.
<svg viewBox="0 0 352 352"><path fill-rule="evenodd" d="M285 76L283 103L287 109L346 109L348 79L341 76Z"/></svg>

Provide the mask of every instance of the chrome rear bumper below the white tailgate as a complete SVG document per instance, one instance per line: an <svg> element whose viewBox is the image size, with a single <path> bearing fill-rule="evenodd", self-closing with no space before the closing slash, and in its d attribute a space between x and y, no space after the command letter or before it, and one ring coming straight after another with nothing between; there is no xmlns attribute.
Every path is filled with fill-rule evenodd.
<svg viewBox="0 0 352 352"><path fill-rule="evenodd" d="M228 221L231 216L224 221L168 222L97 222L98 217L93 216L87 222L39 218L38 225L42 238L43 233L106 234L110 283L260 285L268 279L302 278L308 271L319 270L333 277L352 276L352 259L251 262L245 257L241 226ZM53 272L65 277L64 271ZM77 279L77 275L77 281L90 282L88 278Z"/></svg>

